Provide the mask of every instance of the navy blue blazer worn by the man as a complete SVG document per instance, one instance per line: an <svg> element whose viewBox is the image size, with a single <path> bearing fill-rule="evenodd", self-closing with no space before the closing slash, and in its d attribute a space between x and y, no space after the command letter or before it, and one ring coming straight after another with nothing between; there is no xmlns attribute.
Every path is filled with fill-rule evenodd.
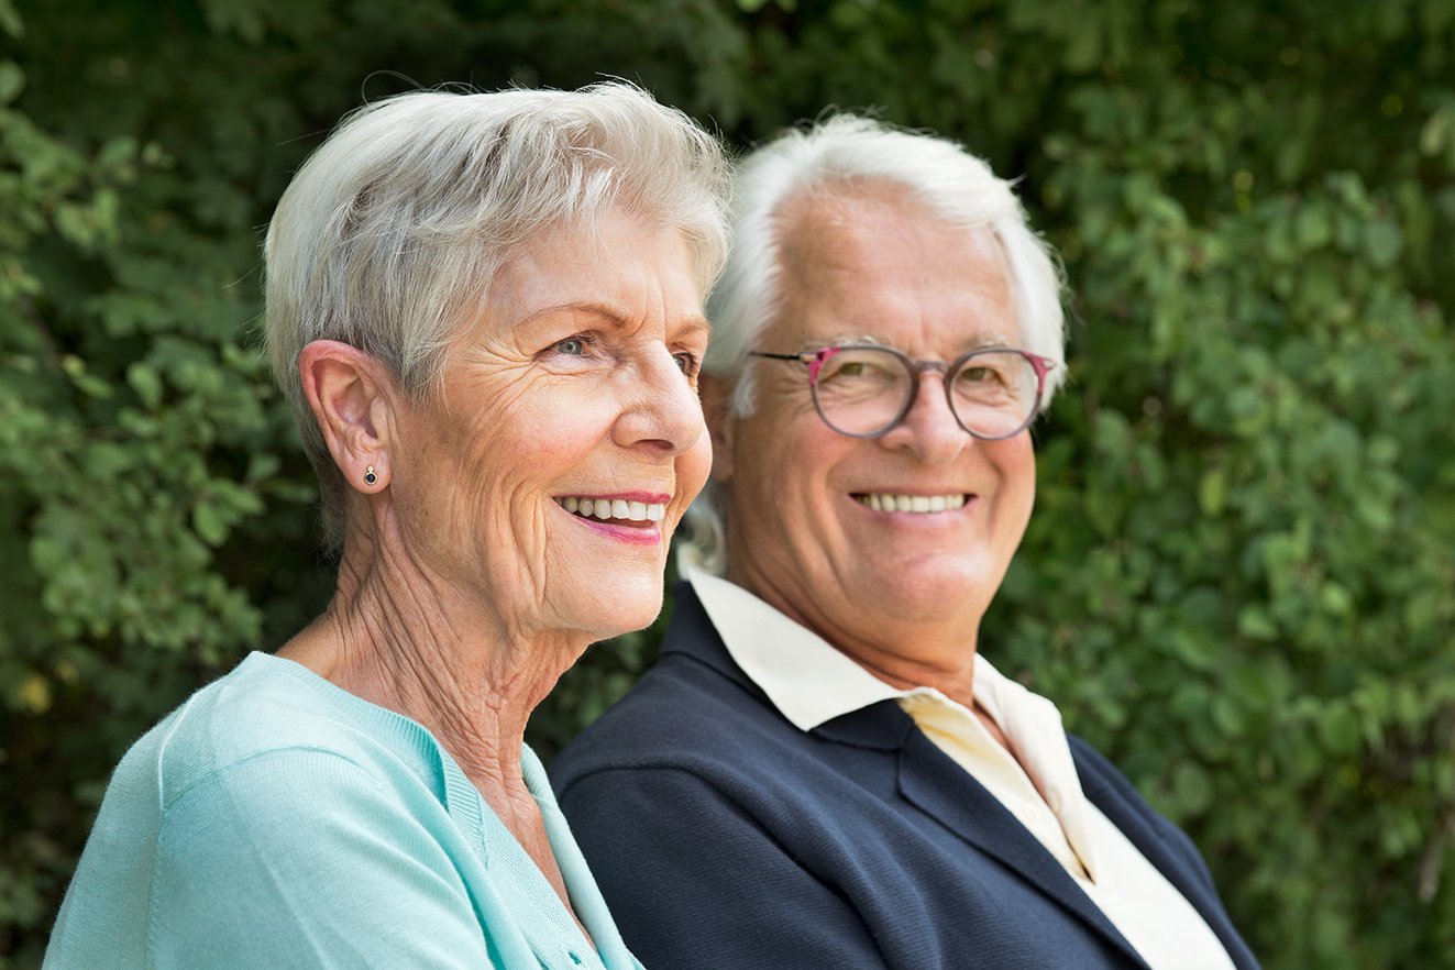
<svg viewBox="0 0 1455 970"><path fill-rule="evenodd" d="M646 967L1094 970L1145 963L1075 880L893 701L800 731L691 588L661 662L551 782ZM1257 960L1192 841L1071 737L1087 797Z"/></svg>

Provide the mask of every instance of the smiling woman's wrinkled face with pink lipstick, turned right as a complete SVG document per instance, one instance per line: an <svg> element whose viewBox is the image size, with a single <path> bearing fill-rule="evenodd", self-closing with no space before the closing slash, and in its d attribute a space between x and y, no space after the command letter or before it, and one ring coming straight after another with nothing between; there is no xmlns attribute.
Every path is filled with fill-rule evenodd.
<svg viewBox="0 0 1455 970"><path fill-rule="evenodd" d="M711 464L701 304L681 233L621 209L506 263L442 394L402 422L391 490L419 566L521 636L652 622Z"/></svg>

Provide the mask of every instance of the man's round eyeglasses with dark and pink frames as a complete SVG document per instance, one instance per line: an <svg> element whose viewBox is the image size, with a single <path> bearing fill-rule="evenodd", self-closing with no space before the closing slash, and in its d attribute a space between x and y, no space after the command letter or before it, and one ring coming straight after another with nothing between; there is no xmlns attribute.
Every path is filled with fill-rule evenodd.
<svg viewBox="0 0 1455 970"><path fill-rule="evenodd" d="M888 435L914 407L920 375L936 371L954 420L970 435L1000 441L1026 430L1056 362L1027 350L982 348L943 361L915 361L893 348L848 343L799 353L749 356L797 361L809 369L813 407L824 423L850 438Z"/></svg>

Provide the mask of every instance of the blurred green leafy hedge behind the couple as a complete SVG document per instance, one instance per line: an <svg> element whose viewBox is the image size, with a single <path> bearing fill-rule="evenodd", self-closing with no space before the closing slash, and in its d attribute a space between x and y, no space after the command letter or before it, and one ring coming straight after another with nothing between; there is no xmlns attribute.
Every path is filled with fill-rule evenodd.
<svg viewBox="0 0 1455 970"><path fill-rule="evenodd" d="M1024 176L1074 380L985 649L1270 969L1455 966L1455 3L0 0L0 966L125 746L330 589L256 350L290 172L367 97L601 74L738 144L877 106Z"/></svg>

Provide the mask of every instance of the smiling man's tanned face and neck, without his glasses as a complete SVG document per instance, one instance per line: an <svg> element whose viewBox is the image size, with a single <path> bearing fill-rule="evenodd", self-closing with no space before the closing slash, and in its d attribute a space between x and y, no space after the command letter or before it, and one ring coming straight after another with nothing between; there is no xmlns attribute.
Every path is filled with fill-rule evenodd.
<svg viewBox="0 0 1455 970"><path fill-rule="evenodd" d="M952 361L978 346L1023 346L989 230L957 228L914 201L864 191L802 199L780 231L786 300L757 350L872 339ZM972 438L940 377L927 374L898 428L847 438L819 419L802 364L749 366L754 413L710 416L729 579L886 679L927 682L928 670L965 663L1030 518L1030 432ZM944 509L886 512L898 503L883 496L943 497Z"/></svg>

